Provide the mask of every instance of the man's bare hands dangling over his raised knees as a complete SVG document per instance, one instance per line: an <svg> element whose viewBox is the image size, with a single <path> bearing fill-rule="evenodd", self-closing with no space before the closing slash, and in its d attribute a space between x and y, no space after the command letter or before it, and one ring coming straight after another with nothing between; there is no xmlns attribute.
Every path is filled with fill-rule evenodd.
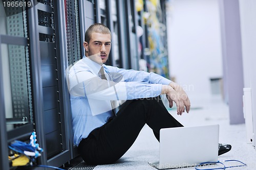
<svg viewBox="0 0 256 170"><path fill-rule="evenodd" d="M183 112L188 113L190 110L190 101L186 92L177 83L171 82L169 85L162 85L161 94L166 94L169 101L169 107L173 107L173 101L177 105L177 114L182 115Z"/></svg>

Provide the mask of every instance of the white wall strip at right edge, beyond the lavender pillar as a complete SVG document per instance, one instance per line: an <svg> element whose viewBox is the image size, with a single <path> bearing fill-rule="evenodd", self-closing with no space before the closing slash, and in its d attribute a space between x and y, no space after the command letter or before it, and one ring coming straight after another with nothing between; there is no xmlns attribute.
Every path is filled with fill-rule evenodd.
<svg viewBox="0 0 256 170"><path fill-rule="evenodd" d="M251 88L251 103L252 103L252 121L253 129L246 129L247 133L253 130L254 141L256 141L256 1L240 0L240 19L241 19L241 36L242 36L242 54L244 68L244 87ZM247 118L247 117L246 117ZM246 120L246 128L248 126ZM256 148L255 148L256 150Z"/></svg>

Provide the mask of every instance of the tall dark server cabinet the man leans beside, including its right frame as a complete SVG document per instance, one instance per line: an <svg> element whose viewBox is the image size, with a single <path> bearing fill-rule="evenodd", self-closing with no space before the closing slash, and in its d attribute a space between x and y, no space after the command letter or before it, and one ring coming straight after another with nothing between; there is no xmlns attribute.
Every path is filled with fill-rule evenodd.
<svg viewBox="0 0 256 170"><path fill-rule="evenodd" d="M68 65L64 1L38 0L37 44L39 46L42 122L40 133L46 155L43 162L60 166L71 159L69 94L65 78Z"/></svg>

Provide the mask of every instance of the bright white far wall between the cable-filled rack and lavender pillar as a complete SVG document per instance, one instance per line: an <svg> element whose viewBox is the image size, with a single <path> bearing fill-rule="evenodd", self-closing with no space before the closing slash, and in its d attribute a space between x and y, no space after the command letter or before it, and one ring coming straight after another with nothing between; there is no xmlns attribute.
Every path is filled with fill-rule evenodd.
<svg viewBox="0 0 256 170"><path fill-rule="evenodd" d="M210 78L222 77L218 0L170 0L167 34L170 76L189 96L207 98Z"/></svg>

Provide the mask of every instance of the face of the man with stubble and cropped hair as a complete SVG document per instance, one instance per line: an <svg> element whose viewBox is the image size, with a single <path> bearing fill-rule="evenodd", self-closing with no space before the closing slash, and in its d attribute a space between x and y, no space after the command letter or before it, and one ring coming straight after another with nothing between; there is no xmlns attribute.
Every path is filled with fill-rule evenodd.
<svg viewBox="0 0 256 170"><path fill-rule="evenodd" d="M111 35L92 33L90 42L83 42L86 56L94 62L102 65L109 58L111 49Z"/></svg>

